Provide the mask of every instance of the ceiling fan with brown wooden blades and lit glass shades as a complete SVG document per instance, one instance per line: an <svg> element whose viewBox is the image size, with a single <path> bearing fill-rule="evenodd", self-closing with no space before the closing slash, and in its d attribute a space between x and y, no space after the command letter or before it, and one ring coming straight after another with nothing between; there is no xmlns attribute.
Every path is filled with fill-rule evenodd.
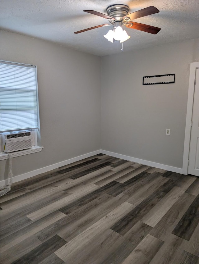
<svg viewBox="0 0 199 264"><path fill-rule="evenodd" d="M122 5L122 4L116 4L116 5L111 5L107 7L106 9L107 15L103 13L99 13L94 10L84 10L84 12L87 12L87 13L90 13L96 16L104 17L107 20L109 20L110 24L98 25L98 26L94 26L91 28L76 31L74 32L75 34L85 32L87 30L99 28L99 27L113 25L113 29L109 30L109 32L106 35L104 35L104 37L111 42L115 40L120 40L120 42L123 42L130 38L127 32L123 30L122 28L123 25L126 26L127 28L145 31L151 34L157 34L160 31L160 28L158 27L131 21L131 20L143 17L143 16L149 16L149 15L160 12L156 7L153 7L153 6L143 8L141 10L135 11L130 14L128 14L129 7L127 5Z"/></svg>

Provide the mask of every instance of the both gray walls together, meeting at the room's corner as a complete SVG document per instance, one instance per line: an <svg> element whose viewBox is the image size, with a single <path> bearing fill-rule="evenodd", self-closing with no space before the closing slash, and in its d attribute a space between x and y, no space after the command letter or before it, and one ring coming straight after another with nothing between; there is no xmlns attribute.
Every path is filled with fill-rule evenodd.
<svg viewBox="0 0 199 264"><path fill-rule="evenodd" d="M44 149L14 158L14 176L100 149L100 127L101 149L182 168L189 70L199 61L199 39L101 59L1 31L1 59L37 65L38 72ZM142 86L143 76L169 73L175 84ZM7 167L2 161L1 180Z"/></svg>

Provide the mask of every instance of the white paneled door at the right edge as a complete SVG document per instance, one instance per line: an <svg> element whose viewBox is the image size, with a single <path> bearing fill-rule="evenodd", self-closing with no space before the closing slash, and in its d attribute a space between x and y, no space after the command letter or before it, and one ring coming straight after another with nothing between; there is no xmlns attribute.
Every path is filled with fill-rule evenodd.
<svg viewBox="0 0 199 264"><path fill-rule="evenodd" d="M199 68L196 69L188 174L199 177Z"/></svg>

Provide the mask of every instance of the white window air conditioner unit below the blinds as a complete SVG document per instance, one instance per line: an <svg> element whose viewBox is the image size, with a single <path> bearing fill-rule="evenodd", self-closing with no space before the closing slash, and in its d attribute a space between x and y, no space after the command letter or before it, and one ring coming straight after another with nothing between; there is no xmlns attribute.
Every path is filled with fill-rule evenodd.
<svg viewBox="0 0 199 264"><path fill-rule="evenodd" d="M2 133L4 152L12 152L32 147L32 135L30 131L17 133Z"/></svg>

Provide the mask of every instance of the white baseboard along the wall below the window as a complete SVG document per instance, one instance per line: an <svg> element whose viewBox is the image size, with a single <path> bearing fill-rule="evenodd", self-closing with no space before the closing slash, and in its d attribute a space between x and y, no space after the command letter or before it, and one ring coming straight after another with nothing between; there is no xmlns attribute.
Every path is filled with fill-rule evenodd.
<svg viewBox="0 0 199 264"><path fill-rule="evenodd" d="M78 156L78 157L71 158L69 160L65 160L65 161L62 161L62 162L58 162L58 163L55 163L55 164L52 164L52 165L37 169L35 171L30 171L30 172L27 172L27 173L24 173L24 174L21 174L21 175L17 175L15 177L13 177L12 181L14 183L14 182L18 182L20 180L25 180L25 179L28 179L30 177L36 176L38 174L41 174L41 173L44 173L44 172L47 172L47 171L51 171L51 170L57 169L59 167L68 165L70 163L73 163L73 162L76 162L76 161L80 161L80 160L86 159L88 157L97 155L99 153L101 153L100 149L96 150L96 151L93 151L93 152L89 152L89 153L83 154L83 155ZM7 185L8 183L9 183L9 179L0 181L0 185L1 186Z"/></svg>

